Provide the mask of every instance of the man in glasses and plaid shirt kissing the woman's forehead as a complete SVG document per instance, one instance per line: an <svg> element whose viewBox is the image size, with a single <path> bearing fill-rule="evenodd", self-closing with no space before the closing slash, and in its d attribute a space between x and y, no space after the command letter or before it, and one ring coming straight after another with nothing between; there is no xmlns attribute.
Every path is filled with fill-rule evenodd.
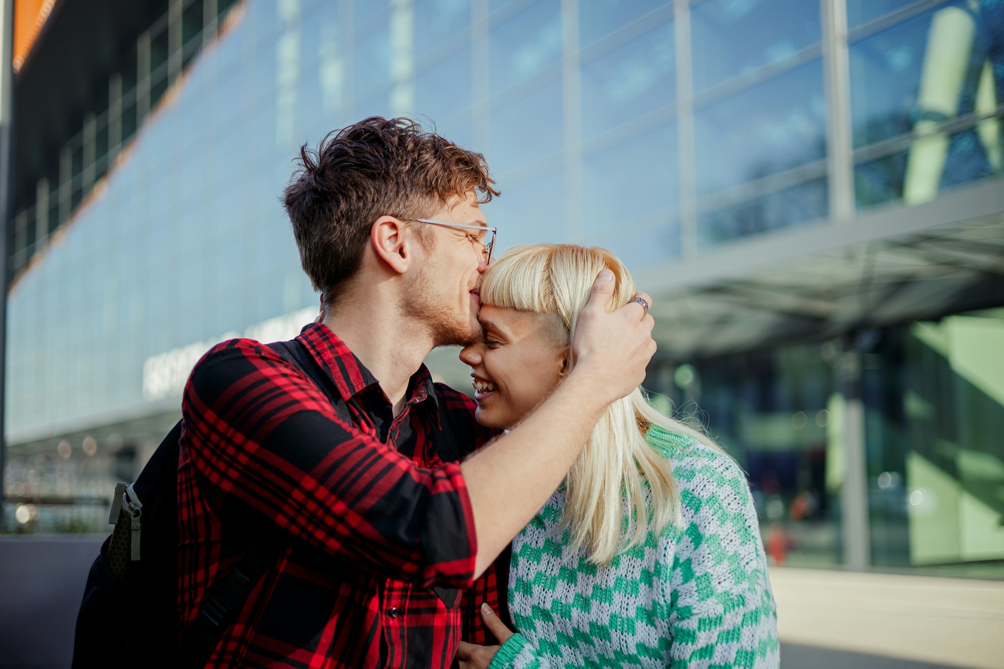
<svg viewBox="0 0 1004 669"><path fill-rule="evenodd" d="M477 285L493 239L479 204L498 195L484 159L380 118L300 158L284 203L324 318L294 343L331 385L325 394L250 340L218 345L193 370L180 633L207 588L265 542L275 564L208 666L456 666L462 619L475 628L468 640L491 641L476 607L498 604L493 561L602 409L644 379L653 321L638 303L607 313L612 281L598 279L575 370L477 450L493 435L474 422L474 403L433 384L422 361L481 336Z"/></svg>

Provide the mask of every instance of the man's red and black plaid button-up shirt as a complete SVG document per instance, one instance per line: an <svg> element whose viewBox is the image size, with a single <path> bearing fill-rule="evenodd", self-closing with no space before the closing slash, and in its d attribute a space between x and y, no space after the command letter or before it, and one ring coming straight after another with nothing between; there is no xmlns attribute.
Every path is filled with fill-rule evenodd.
<svg viewBox="0 0 1004 669"><path fill-rule="evenodd" d="M456 666L462 628L467 641L495 643L481 602L505 603L507 560L472 580L477 541L457 464L494 433L425 367L395 417L330 329L308 325L296 339L330 376L338 411L251 340L214 347L186 386L179 635L207 588L268 542L280 556L207 666Z"/></svg>

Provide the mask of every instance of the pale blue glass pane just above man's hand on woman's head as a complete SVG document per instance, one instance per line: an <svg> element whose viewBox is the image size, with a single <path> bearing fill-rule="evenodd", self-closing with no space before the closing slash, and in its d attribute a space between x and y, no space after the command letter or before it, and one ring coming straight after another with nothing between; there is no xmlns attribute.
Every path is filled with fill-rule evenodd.
<svg viewBox="0 0 1004 669"><path fill-rule="evenodd" d="M671 124L583 157L582 232L616 227L680 205L677 126Z"/></svg>

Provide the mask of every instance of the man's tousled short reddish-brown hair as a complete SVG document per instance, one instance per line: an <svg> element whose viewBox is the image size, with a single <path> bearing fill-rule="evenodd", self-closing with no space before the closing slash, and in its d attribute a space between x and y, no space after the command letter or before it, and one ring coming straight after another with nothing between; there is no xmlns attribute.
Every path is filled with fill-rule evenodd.
<svg viewBox="0 0 1004 669"><path fill-rule="evenodd" d="M359 268L373 221L431 216L454 195L499 195L481 154L411 119L370 117L303 145L283 204L303 271L325 306Z"/></svg>

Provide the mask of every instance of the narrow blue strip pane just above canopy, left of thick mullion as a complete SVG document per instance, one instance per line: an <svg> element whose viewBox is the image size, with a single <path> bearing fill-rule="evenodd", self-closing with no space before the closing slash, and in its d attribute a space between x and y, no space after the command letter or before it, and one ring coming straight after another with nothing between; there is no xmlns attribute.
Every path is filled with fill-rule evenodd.
<svg viewBox="0 0 1004 669"><path fill-rule="evenodd" d="M732 205L698 218L702 246L824 219L829 211L825 179Z"/></svg>

